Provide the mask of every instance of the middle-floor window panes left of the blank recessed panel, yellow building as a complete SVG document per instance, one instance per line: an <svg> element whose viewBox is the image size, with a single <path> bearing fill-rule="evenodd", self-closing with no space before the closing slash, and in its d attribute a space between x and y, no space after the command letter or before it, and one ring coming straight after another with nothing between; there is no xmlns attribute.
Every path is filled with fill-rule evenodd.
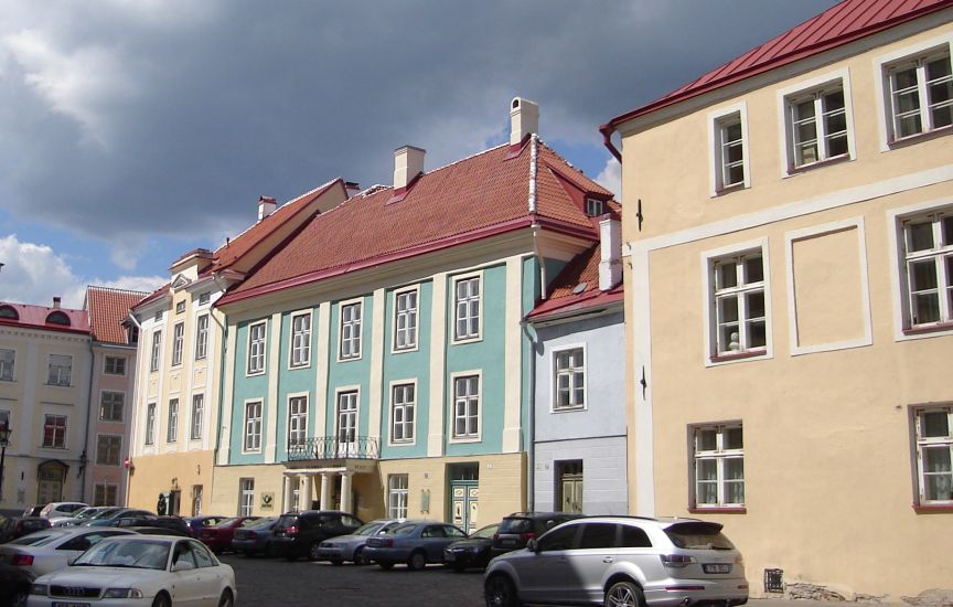
<svg viewBox="0 0 953 607"><path fill-rule="evenodd" d="M761 251L711 259L714 355L763 352L768 345Z"/></svg>

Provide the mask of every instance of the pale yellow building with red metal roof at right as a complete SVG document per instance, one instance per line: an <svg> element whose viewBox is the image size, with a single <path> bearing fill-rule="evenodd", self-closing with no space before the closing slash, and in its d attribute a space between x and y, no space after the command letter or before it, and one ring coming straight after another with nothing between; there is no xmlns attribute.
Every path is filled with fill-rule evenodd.
<svg viewBox="0 0 953 607"><path fill-rule="evenodd" d="M845 0L602 127L630 503L724 523L752 596L953 588L951 20Z"/></svg>

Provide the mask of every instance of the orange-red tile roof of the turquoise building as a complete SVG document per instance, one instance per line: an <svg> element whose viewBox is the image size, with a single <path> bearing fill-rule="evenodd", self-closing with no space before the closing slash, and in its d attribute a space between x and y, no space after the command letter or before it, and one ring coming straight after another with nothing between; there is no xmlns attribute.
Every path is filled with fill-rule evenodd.
<svg viewBox="0 0 953 607"><path fill-rule="evenodd" d="M500 146L471 156L421 174L399 195L389 187L355 195L315 216L219 305L525 227L534 220L597 239L598 226L549 167L557 167L585 191L603 198L611 192L542 141L536 163L537 214L529 213L532 147L531 141L514 155L510 146Z"/></svg>

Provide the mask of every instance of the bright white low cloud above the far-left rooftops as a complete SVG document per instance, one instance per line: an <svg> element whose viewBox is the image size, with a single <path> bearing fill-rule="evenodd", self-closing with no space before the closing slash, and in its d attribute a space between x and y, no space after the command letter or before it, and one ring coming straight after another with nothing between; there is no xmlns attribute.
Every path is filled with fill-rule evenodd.
<svg viewBox="0 0 953 607"><path fill-rule="evenodd" d="M0 237L0 298L15 303L50 306L62 297L66 308L82 308L87 285L151 291L163 284L160 276L124 276L100 280L77 276L53 248L20 242L15 234Z"/></svg>

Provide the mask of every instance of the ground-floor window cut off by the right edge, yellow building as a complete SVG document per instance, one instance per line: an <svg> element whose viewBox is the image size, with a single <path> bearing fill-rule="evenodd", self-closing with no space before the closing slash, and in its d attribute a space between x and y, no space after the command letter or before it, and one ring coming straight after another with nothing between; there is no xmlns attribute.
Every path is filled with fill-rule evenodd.
<svg viewBox="0 0 953 607"><path fill-rule="evenodd" d="M953 503L953 406L914 411L920 504Z"/></svg>

